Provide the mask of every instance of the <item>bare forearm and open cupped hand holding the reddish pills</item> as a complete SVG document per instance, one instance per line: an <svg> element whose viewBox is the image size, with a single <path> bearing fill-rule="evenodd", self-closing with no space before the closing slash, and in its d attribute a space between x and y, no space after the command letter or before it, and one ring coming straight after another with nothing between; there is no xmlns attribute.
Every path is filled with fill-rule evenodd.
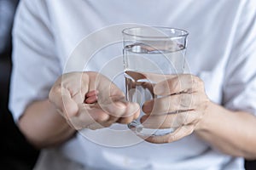
<svg viewBox="0 0 256 170"><path fill-rule="evenodd" d="M97 102L91 97L94 94ZM73 72L56 80L49 99L29 105L19 126L32 144L44 148L67 141L81 128L127 124L137 116L139 105L126 102L125 95L107 77L96 72Z"/></svg>

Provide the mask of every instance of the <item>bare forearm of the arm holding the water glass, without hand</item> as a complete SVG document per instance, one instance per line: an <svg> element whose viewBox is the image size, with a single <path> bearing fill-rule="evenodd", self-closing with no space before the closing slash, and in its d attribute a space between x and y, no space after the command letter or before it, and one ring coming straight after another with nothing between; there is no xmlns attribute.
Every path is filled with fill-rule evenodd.
<svg viewBox="0 0 256 170"><path fill-rule="evenodd" d="M231 156L256 158L256 117L211 103L195 133Z"/></svg>

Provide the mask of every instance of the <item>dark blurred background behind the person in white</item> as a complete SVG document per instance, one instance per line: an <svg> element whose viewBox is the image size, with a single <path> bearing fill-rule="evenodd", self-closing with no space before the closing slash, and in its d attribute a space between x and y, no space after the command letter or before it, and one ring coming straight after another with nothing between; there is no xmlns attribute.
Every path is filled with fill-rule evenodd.
<svg viewBox="0 0 256 170"><path fill-rule="evenodd" d="M19 0L0 0L0 169L32 169L39 150L29 144L8 110L11 72L11 30ZM21 89L22 90L22 89ZM256 161L246 161L247 170L256 170Z"/></svg>

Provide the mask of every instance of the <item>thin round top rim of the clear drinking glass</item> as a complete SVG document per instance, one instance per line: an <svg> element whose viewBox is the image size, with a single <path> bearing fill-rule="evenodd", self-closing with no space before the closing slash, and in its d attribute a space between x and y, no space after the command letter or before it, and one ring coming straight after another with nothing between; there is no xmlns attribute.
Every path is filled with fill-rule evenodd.
<svg viewBox="0 0 256 170"><path fill-rule="evenodd" d="M128 33L126 31L129 31L129 30L133 30L133 29L139 29L139 28L155 28L156 31L160 31L160 30L175 30L175 31L180 31L182 32L182 34L180 35L177 35L177 36L170 36L170 35L166 35L166 36L140 36L140 35L135 35L135 34L131 34L131 33ZM167 26L134 26L134 27L129 27L129 28L125 28L123 31L122 31L123 34L125 34L126 36L130 36L130 37L141 37L141 38L159 38L159 39L176 39L176 38L181 38L181 37L187 37L189 35L189 32L188 31L185 31L183 29L180 29L180 28L175 28L175 27L167 27Z"/></svg>

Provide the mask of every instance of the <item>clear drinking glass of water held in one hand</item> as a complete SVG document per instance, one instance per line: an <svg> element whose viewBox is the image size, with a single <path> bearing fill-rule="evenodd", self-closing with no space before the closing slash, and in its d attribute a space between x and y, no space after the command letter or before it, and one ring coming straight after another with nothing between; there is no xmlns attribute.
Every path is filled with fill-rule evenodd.
<svg viewBox="0 0 256 170"><path fill-rule="evenodd" d="M141 107L154 94L154 84L165 81L170 75L184 71L187 31L168 27L132 27L122 31L124 42L125 97ZM169 113L172 114L172 113ZM158 136L172 133L174 128L143 127L140 118L128 127L141 136Z"/></svg>

